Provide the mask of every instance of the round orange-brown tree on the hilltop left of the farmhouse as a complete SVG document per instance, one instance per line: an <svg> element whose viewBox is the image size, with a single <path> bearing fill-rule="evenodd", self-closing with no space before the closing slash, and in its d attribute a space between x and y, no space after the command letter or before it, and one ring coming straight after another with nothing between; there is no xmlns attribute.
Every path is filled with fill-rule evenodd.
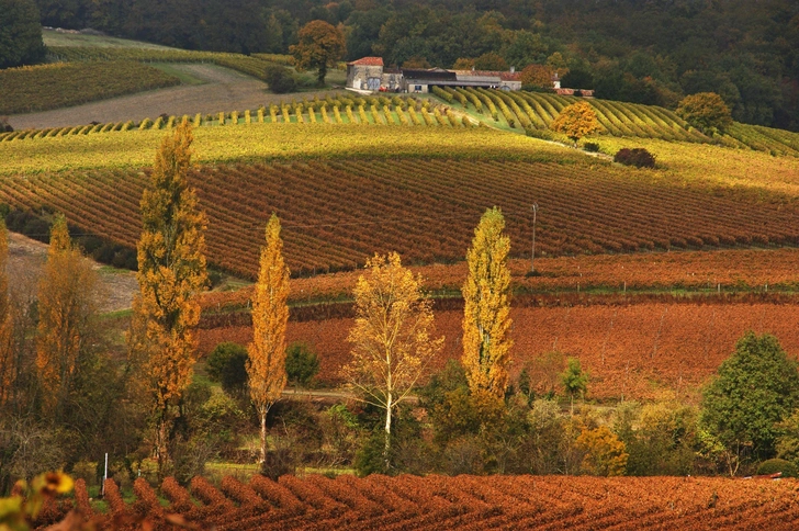
<svg viewBox="0 0 799 531"><path fill-rule="evenodd" d="M317 82L325 84L327 69L336 66L347 49L344 33L333 24L314 20L300 30L300 43L290 47L299 70L318 70Z"/></svg>

